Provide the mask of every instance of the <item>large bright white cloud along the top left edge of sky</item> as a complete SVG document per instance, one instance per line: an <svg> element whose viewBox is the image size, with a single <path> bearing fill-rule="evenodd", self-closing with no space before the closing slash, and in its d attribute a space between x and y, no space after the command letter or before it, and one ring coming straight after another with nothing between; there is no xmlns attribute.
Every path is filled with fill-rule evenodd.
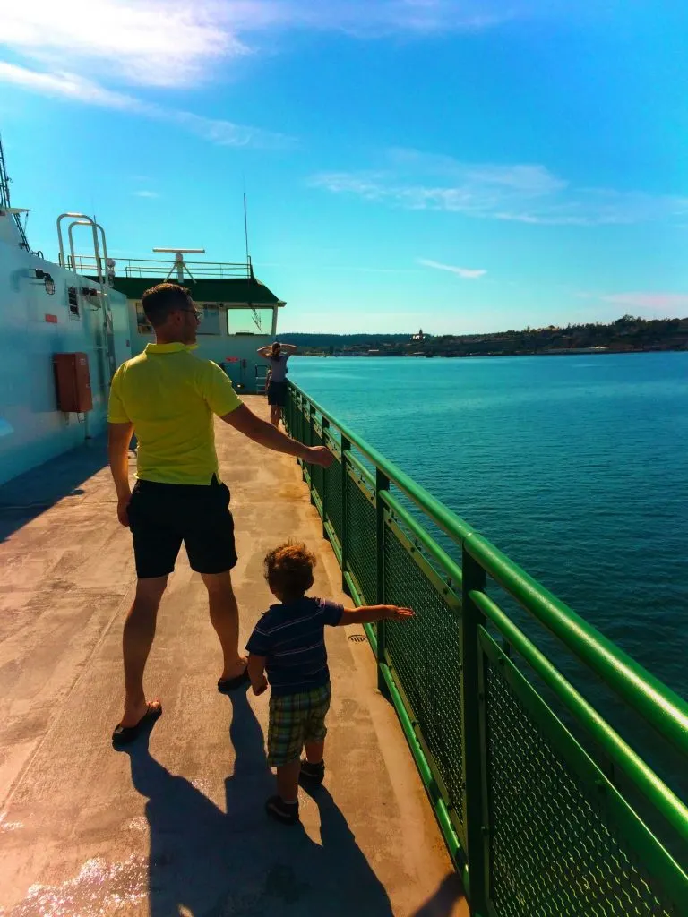
<svg viewBox="0 0 688 917"><path fill-rule="evenodd" d="M535 0L34 0L3 4L0 45L34 64L139 86L208 82L294 29L361 39L492 28Z"/></svg>

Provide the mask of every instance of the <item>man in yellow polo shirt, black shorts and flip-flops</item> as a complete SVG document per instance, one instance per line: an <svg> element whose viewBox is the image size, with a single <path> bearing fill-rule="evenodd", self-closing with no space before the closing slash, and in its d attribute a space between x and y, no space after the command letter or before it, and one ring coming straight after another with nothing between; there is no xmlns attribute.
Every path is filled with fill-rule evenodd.
<svg viewBox="0 0 688 917"><path fill-rule="evenodd" d="M327 468L333 456L306 447L261 420L241 403L215 363L194 356L198 313L189 291L176 283L147 290L141 305L156 343L119 367L110 391L109 456L117 488L117 516L131 529L137 591L124 625L124 715L113 734L127 745L162 712L147 702L143 673L162 594L182 543L208 591L210 620L222 646L217 682L227 692L248 681L239 657L239 610L230 570L237 563L229 490L220 481L214 418L260 443ZM128 476L132 433L139 442L137 483Z"/></svg>

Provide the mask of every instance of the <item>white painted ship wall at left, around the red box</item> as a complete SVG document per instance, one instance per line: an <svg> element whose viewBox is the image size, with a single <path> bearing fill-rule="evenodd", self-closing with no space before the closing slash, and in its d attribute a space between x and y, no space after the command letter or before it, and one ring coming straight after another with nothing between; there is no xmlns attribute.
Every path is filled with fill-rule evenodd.
<svg viewBox="0 0 688 917"><path fill-rule="evenodd" d="M0 216L0 483L81 445L105 430L109 372L104 353L102 309L79 297L71 315L67 287L94 288L93 281L19 249L7 217ZM46 292L35 269L47 271L55 293ZM109 291L117 365L128 359L127 300ZM54 315L53 324L46 315ZM52 356L80 351L88 356L94 409L80 423L57 408Z"/></svg>

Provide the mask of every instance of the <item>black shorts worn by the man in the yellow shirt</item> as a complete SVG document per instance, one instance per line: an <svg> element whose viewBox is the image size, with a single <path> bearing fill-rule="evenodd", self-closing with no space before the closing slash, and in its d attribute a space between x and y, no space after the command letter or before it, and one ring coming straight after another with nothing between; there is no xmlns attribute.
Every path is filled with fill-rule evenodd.
<svg viewBox="0 0 688 917"><path fill-rule="evenodd" d="M225 573L237 564L229 489L137 481L128 507L139 580L172 573L182 543L197 573Z"/></svg>

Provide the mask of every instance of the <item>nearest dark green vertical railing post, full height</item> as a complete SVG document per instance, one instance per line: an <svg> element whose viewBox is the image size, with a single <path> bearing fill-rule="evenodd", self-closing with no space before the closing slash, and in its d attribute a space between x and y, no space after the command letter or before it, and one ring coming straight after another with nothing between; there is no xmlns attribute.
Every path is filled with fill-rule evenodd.
<svg viewBox="0 0 688 917"><path fill-rule="evenodd" d="M463 726L464 824L471 888L471 912L487 913L490 887L483 651L478 627L483 614L470 593L484 591L485 571L461 548L461 722Z"/></svg>

